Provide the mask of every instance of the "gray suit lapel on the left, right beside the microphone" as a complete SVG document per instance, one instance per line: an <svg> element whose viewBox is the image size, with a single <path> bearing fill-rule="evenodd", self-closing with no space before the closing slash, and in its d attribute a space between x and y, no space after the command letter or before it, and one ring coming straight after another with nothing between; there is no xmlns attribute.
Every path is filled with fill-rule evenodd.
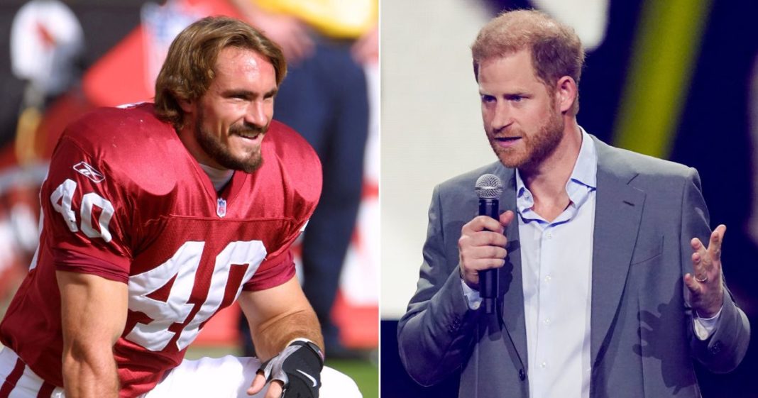
<svg viewBox="0 0 758 398"><path fill-rule="evenodd" d="M526 367L526 324L524 321L521 245L518 238L518 212L516 212L515 171L500 165L496 174L503 178L503 196L500 197L501 208L512 210L515 213L515 218L506 227L508 257L506 265L500 271L498 280L500 293L503 297L503 323L522 365Z"/></svg>

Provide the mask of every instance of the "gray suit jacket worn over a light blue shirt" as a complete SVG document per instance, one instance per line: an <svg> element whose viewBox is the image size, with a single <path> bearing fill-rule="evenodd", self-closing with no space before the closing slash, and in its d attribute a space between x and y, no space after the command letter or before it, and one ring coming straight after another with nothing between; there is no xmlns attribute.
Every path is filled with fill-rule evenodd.
<svg viewBox="0 0 758 398"><path fill-rule="evenodd" d="M750 340L747 317L728 292L713 336L706 341L694 337L682 276L692 270L690 240L709 240L700 177L694 168L593 139L598 165L590 396L700 396L693 359L711 371L730 371ZM528 358L518 222L506 230L500 316L468 309L457 271L461 227L478 212L475 181L486 173L496 174L505 185L501 212L515 211L515 171L499 162L435 188L418 290L399 321L400 358L422 385L460 369L460 396L525 398Z"/></svg>

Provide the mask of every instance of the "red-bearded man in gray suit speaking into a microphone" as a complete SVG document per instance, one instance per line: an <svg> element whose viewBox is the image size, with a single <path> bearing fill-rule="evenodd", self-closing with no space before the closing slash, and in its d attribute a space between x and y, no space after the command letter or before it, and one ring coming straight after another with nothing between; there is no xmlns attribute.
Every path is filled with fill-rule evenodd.
<svg viewBox="0 0 758 398"><path fill-rule="evenodd" d="M750 340L722 279L693 168L616 149L577 122L584 50L537 11L501 14L471 46L499 161L436 187L400 357L459 396L699 397L693 362L734 369ZM475 181L503 181L499 219ZM479 273L500 270L481 309Z"/></svg>

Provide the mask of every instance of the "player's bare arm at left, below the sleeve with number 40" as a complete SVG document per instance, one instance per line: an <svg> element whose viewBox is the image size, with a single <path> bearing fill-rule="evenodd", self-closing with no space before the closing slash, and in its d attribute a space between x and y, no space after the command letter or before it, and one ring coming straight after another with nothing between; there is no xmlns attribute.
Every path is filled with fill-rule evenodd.
<svg viewBox="0 0 758 398"><path fill-rule="evenodd" d="M113 345L127 319L127 285L57 271L61 291L63 378L68 398L118 396Z"/></svg>

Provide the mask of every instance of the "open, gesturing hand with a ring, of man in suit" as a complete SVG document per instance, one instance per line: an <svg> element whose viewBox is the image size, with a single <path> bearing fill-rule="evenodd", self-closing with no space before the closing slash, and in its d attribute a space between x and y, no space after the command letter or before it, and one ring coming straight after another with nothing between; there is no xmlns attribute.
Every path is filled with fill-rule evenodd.
<svg viewBox="0 0 758 398"><path fill-rule="evenodd" d="M691 292L692 309L700 318L712 318L724 303L724 286L721 273L721 245L726 226L716 227L711 233L708 247L699 239L691 240L692 274L684 275L684 285Z"/></svg>

